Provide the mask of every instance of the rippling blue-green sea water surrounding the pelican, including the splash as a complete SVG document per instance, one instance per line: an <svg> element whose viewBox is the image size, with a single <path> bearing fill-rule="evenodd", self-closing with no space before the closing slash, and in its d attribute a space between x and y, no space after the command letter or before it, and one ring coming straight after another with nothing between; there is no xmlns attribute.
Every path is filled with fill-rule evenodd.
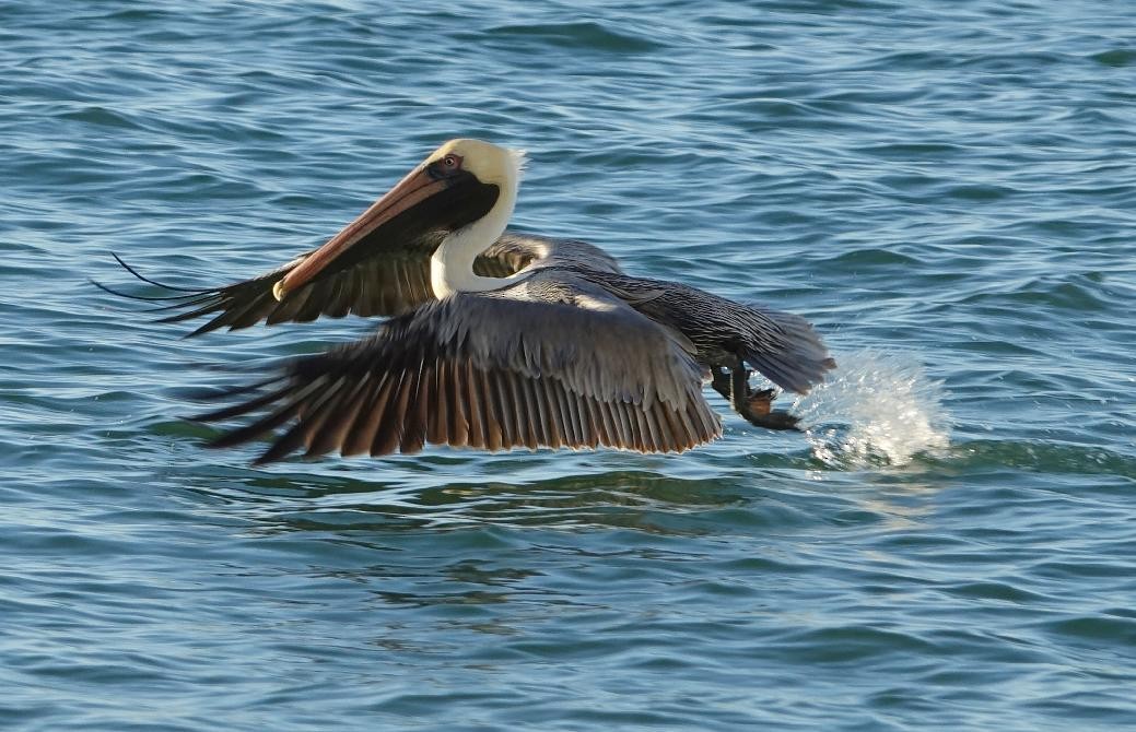
<svg viewBox="0 0 1136 732"><path fill-rule="evenodd" d="M0 725L1136 725L1134 23L0 3ZM204 451L208 365L371 325L182 340L87 278L274 267L457 135L528 149L519 228L813 320L809 432Z"/></svg>

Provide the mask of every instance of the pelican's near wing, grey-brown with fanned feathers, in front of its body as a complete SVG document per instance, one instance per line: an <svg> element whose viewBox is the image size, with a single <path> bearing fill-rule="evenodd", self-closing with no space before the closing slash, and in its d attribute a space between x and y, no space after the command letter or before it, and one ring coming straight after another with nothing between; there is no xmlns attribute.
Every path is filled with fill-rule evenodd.
<svg viewBox="0 0 1136 732"><path fill-rule="evenodd" d="M534 275L426 303L366 340L292 360L199 419L253 415L219 447L286 427L258 463L425 443L682 452L721 434L688 345L599 287Z"/></svg>

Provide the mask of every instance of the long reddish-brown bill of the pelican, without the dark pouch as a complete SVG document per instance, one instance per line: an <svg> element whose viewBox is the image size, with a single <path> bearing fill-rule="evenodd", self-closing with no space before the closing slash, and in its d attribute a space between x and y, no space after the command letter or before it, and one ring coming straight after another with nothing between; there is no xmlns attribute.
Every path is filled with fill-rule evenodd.
<svg viewBox="0 0 1136 732"><path fill-rule="evenodd" d="M299 289L311 281L335 258L350 249L359 239L445 187L446 184L444 180L437 180L426 171L425 162L419 165L408 173L402 180L399 180L386 195L375 201L369 209L360 213L359 218L343 227L343 230L328 239L326 244L312 252L308 259L303 260L295 269L276 283L273 287L273 296L278 301L284 300L290 292Z"/></svg>

